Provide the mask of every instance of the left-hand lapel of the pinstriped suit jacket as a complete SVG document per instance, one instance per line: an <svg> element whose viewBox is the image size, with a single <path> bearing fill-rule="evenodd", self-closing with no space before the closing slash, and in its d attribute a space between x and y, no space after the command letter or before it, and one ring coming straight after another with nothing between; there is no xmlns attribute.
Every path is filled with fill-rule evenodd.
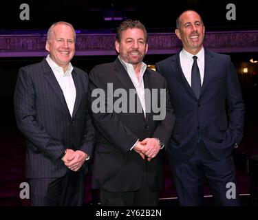
<svg viewBox="0 0 258 220"><path fill-rule="evenodd" d="M48 65L47 61L45 61L45 59L42 62L43 62L43 66L44 66L43 74L44 74L45 80L47 80L47 82L50 84L50 87L52 87L54 93L58 96L61 103L63 104L65 111L70 115L69 109L68 109L66 101L65 101L65 96L63 96L63 91L62 91L60 85L58 84L58 81L56 80L56 77L54 76L52 69Z"/></svg>

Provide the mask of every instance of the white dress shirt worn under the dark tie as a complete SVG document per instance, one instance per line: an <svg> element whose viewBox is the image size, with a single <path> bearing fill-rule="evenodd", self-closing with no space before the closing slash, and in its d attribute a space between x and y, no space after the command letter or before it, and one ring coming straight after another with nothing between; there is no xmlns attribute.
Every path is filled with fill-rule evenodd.
<svg viewBox="0 0 258 220"><path fill-rule="evenodd" d="M204 82L204 47L198 52L196 55L190 54L186 50L182 49L180 52L180 65L182 67L182 71L184 73L184 77L191 87L191 74L192 74L192 66L193 66L193 56L197 56L197 65L200 70L201 75L201 85Z"/></svg>

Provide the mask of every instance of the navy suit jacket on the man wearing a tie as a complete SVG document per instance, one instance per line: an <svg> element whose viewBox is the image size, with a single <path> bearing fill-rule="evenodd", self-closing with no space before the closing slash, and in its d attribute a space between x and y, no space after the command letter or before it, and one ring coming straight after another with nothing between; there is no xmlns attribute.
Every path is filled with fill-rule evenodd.
<svg viewBox="0 0 258 220"><path fill-rule="evenodd" d="M175 114L170 155L189 160L199 138L216 159L228 157L241 141L244 126L244 102L230 56L205 50L199 100L184 77L179 54L156 66L166 78Z"/></svg>

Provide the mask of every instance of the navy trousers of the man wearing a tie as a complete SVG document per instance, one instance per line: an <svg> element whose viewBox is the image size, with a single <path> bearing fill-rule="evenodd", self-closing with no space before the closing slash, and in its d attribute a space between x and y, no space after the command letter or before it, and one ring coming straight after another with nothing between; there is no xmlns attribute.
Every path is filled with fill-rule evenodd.
<svg viewBox="0 0 258 220"><path fill-rule="evenodd" d="M189 162L169 159L180 206L203 205L203 180L208 182L217 206L239 206L233 155L217 161L199 142Z"/></svg>

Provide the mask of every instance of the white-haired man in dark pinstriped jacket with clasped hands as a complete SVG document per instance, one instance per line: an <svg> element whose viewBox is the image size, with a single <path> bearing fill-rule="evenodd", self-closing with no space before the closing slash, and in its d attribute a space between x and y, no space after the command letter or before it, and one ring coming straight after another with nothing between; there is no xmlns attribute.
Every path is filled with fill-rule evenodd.
<svg viewBox="0 0 258 220"><path fill-rule="evenodd" d="M87 74L70 63L75 41L71 24L54 23L45 45L50 54L19 70L14 111L26 138L32 206L83 205L94 128L87 110Z"/></svg>

